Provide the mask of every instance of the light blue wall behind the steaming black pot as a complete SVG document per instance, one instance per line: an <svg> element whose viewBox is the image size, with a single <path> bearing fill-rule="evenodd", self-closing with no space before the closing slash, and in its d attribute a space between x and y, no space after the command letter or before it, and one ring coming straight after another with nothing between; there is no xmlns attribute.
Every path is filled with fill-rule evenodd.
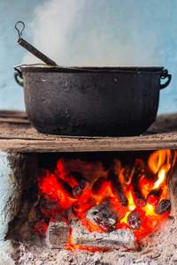
<svg viewBox="0 0 177 265"><path fill-rule="evenodd" d="M176 0L0 0L0 18L0 110L25 110L12 68L35 63L16 43L23 20L24 39L60 65L165 66L158 113L177 112Z"/></svg>

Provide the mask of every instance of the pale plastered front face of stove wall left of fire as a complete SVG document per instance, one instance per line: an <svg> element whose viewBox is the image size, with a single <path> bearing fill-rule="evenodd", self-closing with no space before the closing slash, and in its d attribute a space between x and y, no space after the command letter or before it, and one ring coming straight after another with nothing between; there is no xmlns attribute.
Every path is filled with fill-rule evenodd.
<svg viewBox="0 0 177 265"><path fill-rule="evenodd" d="M21 176L12 169L9 155L0 150L0 264L14 265L13 248L9 240L4 242L9 223L17 215L22 193ZM16 171L16 173L15 173Z"/></svg>

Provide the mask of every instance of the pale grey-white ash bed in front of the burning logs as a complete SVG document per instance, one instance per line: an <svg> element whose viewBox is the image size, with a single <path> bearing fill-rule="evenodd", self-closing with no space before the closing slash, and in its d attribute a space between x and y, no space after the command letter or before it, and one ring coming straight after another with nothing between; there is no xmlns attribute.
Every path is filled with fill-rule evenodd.
<svg viewBox="0 0 177 265"><path fill-rule="evenodd" d="M34 242L21 243L19 265L175 265L177 264L177 230L173 218L160 231L142 241L141 251L91 253L89 251L50 249Z"/></svg>

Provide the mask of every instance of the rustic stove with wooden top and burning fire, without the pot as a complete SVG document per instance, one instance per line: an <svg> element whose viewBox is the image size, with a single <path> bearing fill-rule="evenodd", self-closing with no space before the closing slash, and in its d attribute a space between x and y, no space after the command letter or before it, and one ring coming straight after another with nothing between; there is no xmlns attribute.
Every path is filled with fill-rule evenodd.
<svg viewBox="0 0 177 265"><path fill-rule="evenodd" d="M9 185L4 243L11 242L17 264L33 264L30 254L33 262L50 254L62 264L73 252L74 259L78 252L90 259L99 253L103 262L110 254L142 255L144 262L173 258L176 136L162 129L166 116L139 137L71 138L37 133L25 114L2 113L1 186ZM174 132L176 117L170 118Z"/></svg>

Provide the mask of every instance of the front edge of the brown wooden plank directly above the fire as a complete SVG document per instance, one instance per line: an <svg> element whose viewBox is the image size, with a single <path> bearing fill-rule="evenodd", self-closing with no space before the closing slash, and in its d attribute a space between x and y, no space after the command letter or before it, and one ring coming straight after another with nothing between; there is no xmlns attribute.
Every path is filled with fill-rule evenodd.
<svg viewBox="0 0 177 265"><path fill-rule="evenodd" d="M0 139L0 149L10 152L103 152L103 151L132 151L177 149L177 135L175 137L162 136L156 140L145 138L127 139L110 138L105 140L65 139L56 140L26 140Z"/></svg>

